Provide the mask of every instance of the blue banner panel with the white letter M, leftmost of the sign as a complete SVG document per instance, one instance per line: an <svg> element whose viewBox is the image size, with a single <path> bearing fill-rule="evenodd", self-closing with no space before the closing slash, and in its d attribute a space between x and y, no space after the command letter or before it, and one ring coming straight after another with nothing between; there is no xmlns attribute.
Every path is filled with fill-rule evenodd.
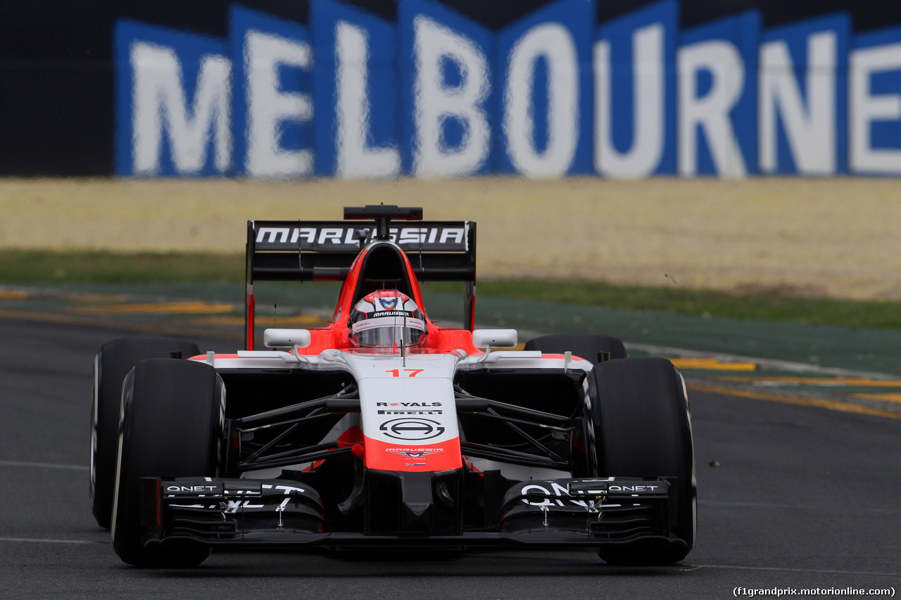
<svg viewBox="0 0 901 600"><path fill-rule="evenodd" d="M232 168L231 70L223 41L120 21L117 175L223 176Z"/></svg>

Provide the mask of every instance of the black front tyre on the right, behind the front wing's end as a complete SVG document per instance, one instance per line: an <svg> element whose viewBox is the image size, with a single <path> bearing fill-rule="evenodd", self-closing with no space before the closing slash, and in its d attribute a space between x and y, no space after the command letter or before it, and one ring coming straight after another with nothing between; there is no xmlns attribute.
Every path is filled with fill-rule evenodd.
<svg viewBox="0 0 901 600"><path fill-rule="evenodd" d="M697 503L691 415L681 375L666 359L610 360L589 376L588 432L597 476L676 477L670 542L598 552L612 564L663 565L695 544Z"/></svg>

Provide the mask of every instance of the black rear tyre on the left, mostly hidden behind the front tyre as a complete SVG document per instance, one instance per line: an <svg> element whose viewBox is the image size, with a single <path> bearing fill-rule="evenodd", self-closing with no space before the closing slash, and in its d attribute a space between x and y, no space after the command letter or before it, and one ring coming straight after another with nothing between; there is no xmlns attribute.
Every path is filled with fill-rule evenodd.
<svg viewBox="0 0 901 600"><path fill-rule="evenodd" d="M120 338L107 341L94 359L91 407L91 512L97 524L110 527L113 513L116 452L122 382L135 363L164 359L173 353L188 358L200 353L195 343L172 338Z"/></svg>

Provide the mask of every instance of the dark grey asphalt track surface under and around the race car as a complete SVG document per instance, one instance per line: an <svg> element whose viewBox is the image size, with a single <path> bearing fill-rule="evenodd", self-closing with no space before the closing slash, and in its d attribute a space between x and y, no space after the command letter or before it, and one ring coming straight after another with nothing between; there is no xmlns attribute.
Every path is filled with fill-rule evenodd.
<svg viewBox="0 0 901 600"><path fill-rule="evenodd" d="M723 598L736 587L901 586L901 421L699 392L699 537L680 565L479 550L223 553L191 570L132 568L94 523L87 484L92 360L123 334L0 319L0 597Z"/></svg>

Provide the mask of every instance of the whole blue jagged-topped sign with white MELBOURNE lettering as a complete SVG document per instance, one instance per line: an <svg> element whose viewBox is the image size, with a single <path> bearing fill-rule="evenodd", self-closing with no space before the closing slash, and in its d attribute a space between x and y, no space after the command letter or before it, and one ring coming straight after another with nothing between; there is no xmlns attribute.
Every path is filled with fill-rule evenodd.
<svg viewBox="0 0 901 600"><path fill-rule="evenodd" d="M559 0L489 29L233 5L227 39L115 25L115 170L136 177L901 175L901 27L846 14L689 29L665 0Z"/></svg>

